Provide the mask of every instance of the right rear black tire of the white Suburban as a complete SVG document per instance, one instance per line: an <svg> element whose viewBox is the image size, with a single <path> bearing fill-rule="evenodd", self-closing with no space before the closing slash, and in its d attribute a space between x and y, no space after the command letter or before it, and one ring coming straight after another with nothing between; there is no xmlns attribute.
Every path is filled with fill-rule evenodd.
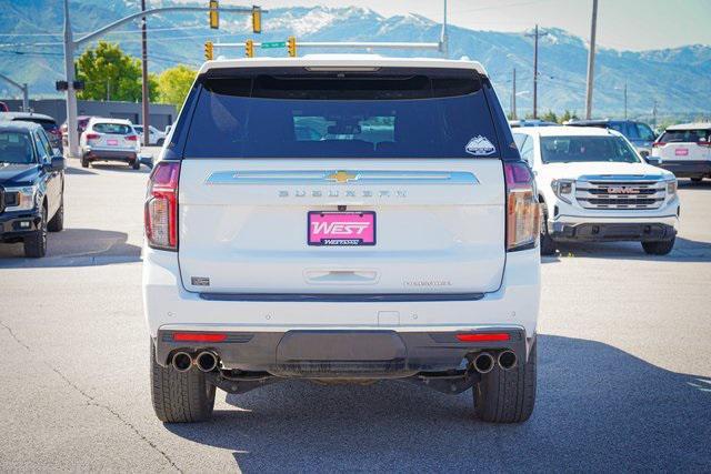
<svg viewBox="0 0 711 474"><path fill-rule="evenodd" d="M472 389L474 414L490 423L522 423L535 405L535 343L529 360L510 371L498 365Z"/></svg>

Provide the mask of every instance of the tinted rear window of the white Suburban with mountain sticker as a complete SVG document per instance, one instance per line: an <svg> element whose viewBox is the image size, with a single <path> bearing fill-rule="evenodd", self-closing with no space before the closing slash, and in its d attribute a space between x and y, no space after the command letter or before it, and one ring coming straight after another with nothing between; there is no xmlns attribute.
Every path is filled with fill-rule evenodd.
<svg viewBox="0 0 711 474"><path fill-rule="evenodd" d="M498 143L471 71L259 74L202 79L184 155L474 158Z"/></svg>

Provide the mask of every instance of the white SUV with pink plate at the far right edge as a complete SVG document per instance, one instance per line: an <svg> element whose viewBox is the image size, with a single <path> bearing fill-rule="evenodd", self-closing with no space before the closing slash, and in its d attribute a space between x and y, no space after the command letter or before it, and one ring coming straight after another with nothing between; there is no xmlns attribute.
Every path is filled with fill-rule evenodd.
<svg viewBox="0 0 711 474"><path fill-rule="evenodd" d="M694 182L711 178L711 123L669 127L654 142L652 157L677 178L691 178Z"/></svg>

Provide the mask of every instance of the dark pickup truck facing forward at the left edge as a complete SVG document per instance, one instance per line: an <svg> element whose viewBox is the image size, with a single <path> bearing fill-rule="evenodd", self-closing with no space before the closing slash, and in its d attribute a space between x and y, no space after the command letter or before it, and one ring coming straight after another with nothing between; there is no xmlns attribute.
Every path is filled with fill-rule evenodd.
<svg viewBox="0 0 711 474"><path fill-rule="evenodd" d="M64 226L64 158L38 123L0 122L0 242L44 256L47 232Z"/></svg>

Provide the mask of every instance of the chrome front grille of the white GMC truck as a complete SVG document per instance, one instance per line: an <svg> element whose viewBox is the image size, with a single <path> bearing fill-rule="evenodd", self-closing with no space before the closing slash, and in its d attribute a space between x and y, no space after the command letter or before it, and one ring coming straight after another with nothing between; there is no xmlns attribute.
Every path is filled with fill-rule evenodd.
<svg viewBox="0 0 711 474"><path fill-rule="evenodd" d="M575 200L584 209L658 209L667 196L661 180L583 178L575 183Z"/></svg>

